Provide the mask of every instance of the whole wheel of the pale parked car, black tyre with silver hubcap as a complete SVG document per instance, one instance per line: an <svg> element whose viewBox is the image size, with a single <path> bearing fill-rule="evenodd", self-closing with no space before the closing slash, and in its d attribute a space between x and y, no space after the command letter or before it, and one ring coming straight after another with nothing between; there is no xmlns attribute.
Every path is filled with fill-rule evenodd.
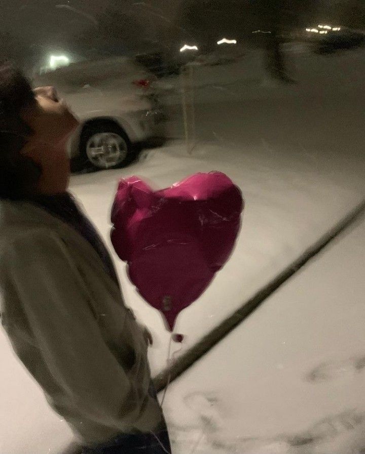
<svg viewBox="0 0 365 454"><path fill-rule="evenodd" d="M131 143L115 123L100 121L85 127L80 140L80 155L96 169L117 169L131 161Z"/></svg>

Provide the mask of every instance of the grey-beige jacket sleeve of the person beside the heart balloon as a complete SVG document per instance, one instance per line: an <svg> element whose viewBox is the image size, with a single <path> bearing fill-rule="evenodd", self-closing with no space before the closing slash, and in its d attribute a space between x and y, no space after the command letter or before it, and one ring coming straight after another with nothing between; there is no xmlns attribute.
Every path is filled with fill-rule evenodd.
<svg viewBox="0 0 365 454"><path fill-rule="evenodd" d="M33 339L64 393L62 400L106 427L155 428L161 418L158 402L140 395L109 351L86 283L62 240L49 230L23 235L9 246L7 263Z"/></svg>

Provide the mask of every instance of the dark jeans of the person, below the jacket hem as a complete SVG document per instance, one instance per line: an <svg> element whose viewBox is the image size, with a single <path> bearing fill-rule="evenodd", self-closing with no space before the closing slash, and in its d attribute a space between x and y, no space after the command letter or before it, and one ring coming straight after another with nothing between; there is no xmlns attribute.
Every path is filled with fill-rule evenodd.
<svg viewBox="0 0 365 454"><path fill-rule="evenodd" d="M150 386L150 395L157 400L155 387ZM170 454L170 439L166 422L156 433L121 434L102 446L84 448L83 454Z"/></svg>

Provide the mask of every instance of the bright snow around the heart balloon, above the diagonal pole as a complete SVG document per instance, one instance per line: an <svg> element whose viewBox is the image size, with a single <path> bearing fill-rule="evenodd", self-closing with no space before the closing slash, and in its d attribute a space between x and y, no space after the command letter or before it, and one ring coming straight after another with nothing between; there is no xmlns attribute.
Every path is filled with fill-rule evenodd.
<svg viewBox="0 0 365 454"><path fill-rule="evenodd" d="M205 144L189 156L184 144L175 144L146 153L125 170L77 176L72 190L110 245L109 211L123 175L137 174L166 187L195 172L219 170L242 189L246 209L236 249L202 297L178 316L175 332L185 335L178 357L360 203L365 170L361 162L344 162L335 154L318 155L311 148L278 150L266 144L244 150ZM155 375L166 367L169 333L160 314L130 284L124 263L117 257L116 263L127 304L155 337L150 350Z"/></svg>

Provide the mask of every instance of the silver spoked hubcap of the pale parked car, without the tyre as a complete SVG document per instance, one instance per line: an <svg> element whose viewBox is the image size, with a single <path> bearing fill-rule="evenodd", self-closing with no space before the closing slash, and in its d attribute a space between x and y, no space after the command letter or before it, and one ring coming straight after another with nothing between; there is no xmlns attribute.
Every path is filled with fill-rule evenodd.
<svg viewBox="0 0 365 454"><path fill-rule="evenodd" d="M108 169L120 164L127 156L127 143L115 133L94 134L86 144L86 154L100 169Z"/></svg>

